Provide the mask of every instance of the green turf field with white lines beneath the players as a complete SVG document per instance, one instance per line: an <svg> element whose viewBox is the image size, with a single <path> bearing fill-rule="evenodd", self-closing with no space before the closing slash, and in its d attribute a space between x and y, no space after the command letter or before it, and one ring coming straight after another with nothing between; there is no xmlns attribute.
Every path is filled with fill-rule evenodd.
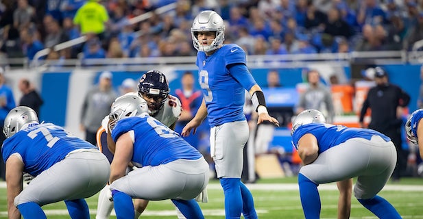
<svg viewBox="0 0 423 219"><path fill-rule="evenodd" d="M295 177L263 179L247 184L254 196L258 218L304 218ZM322 199L321 218L337 218L338 192L334 183L319 185ZM402 179L399 183L389 182L380 192L396 207L403 218L423 218L423 179ZM97 195L86 199L91 218L95 218ZM205 218L224 218L223 191L218 181L208 185L208 203L200 203ZM70 218L63 202L43 207L47 218ZM112 217L114 212L112 212ZM7 218L5 183L0 182L0 218ZM177 218L171 201L150 202L141 218ZM370 211L352 199L350 218L376 218Z"/></svg>

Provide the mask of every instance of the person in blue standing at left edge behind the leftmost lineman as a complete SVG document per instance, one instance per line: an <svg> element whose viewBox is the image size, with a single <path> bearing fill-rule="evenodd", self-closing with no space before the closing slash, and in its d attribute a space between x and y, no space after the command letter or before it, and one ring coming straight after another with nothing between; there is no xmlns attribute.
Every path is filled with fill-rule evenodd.
<svg viewBox="0 0 423 219"><path fill-rule="evenodd" d="M16 107L14 102L12 89L5 84L5 72L3 68L0 67L0 127L3 127L4 120L8 115L9 111ZM3 144L5 140L3 131L0 133L0 144ZM1 154L0 154L1 155ZM3 159L4 160L4 159ZM0 177L5 180L5 163L0 162Z"/></svg>

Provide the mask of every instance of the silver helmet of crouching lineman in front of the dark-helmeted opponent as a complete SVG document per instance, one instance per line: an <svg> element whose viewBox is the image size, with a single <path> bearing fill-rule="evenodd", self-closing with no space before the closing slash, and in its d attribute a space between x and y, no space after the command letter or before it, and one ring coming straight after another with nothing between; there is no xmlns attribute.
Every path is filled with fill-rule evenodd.
<svg viewBox="0 0 423 219"><path fill-rule="evenodd" d="M148 113L148 105L145 99L138 95L123 95L119 96L112 103L112 107L109 114L110 123L108 128L110 131L114 129L117 121L132 116L138 116L142 113Z"/></svg>

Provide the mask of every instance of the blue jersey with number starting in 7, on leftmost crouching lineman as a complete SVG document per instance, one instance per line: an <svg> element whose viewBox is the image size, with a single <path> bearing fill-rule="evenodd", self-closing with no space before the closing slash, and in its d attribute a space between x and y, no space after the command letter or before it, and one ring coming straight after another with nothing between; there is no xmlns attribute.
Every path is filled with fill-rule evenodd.
<svg viewBox="0 0 423 219"><path fill-rule="evenodd" d="M43 123L22 129L6 139L1 146L1 153L4 162L10 155L16 153L21 155L23 171L35 177L77 149L97 149L97 147L72 136L62 127Z"/></svg>

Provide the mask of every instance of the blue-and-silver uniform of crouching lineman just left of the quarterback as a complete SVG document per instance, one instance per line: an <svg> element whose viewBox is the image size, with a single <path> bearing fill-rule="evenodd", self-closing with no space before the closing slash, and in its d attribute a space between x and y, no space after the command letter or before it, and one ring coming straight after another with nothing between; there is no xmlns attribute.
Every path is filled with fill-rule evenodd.
<svg viewBox="0 0 423 219"><path fill-rule="evenodd" d="M114 142L123 133L132 136L132 163L142 167L110 185L117 218L134 218L131 198L171 199L186 218L204 218L193 199L208 183L208 164L200 152L147 113L119 120Z"/></svg>

